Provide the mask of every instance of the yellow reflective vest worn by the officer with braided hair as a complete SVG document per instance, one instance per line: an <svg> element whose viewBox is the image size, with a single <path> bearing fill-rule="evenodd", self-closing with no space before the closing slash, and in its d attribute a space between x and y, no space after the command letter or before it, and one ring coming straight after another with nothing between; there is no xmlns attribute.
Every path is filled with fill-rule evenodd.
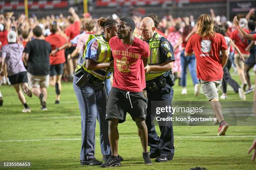
<svg viewBox="0 0 256 170"><path fill-rule="evenodd" d="M97 48L97 60L96 62L102 63L102 62L110 62L111 58L111 48L108 44L108 42L105 41L102 35L89 35L89 39L86 42L85 49L84 49L84 55L81 57L81 59L78 62L76 70L79 68L83 67L83 69L87 72L90 72L92 75L95 77L104 80L106 78L109 78L110 76L107 77L108 75L108 69L102 68L100 70L87 70L85 67L86 64L86 50L87 50L87 44L92 40L93 38L96 38L98 42L98 48Z"/></svg>

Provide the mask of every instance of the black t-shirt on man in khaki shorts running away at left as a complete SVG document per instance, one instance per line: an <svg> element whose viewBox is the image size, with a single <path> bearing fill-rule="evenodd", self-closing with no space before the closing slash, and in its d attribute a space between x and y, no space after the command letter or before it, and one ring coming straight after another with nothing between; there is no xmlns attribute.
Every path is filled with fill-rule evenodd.
<svg viewBox="0 0 256 170"><path fill-rule="evenodd" d="M24 52L29 53L28 72L32 75L49 75L51 45L45 40L34 39L27 43Z"/></svg>

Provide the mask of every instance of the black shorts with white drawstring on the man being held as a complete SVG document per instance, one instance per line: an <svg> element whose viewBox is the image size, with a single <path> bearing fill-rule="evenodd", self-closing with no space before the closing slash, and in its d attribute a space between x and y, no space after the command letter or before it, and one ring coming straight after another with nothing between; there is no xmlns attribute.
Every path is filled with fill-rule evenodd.
<svg viewBox="0 0 256 170"><path fill-rule="evenodd" d="M134 121L138 117L145 120L147 101L142 92L129 92L128 94L125 90L112 87L108 94L106 120L115 118L119 119L119 123L123 123L127 112Z"/></svg>

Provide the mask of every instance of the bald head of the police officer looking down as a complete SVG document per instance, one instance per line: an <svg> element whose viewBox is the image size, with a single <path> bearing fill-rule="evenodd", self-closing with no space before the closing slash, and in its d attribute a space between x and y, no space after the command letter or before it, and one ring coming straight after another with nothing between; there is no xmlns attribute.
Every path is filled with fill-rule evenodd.
<svg viewBox="0 0 256 170"><path fill-rule="evenodd" d="M145 17L141 20L140 23L140 33L143 40L149 40L154 35L154 31L156 30L154 20L150 17Z"/></svg>

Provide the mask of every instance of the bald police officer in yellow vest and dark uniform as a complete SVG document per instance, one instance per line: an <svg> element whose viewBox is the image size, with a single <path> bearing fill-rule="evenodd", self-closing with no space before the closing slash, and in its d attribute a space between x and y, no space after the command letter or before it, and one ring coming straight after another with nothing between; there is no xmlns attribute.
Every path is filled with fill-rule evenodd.
<svg viewBox="0 0 256 170"><path fill-rule="evenodd" d="M148 97L148 107L146 115L146 125L148 128L148 146L150 146L150 158L156 158L156 162L166 162L172 160L174 156L174 136L172 122L158 122L161 131L160 137L157 135L154 126L155 113L151 113L152 106L157 105L151 101L161 101L172 105L173 81L172 62L175 60L173 47L168 40L155 31L154 21L143 18L139 30L141 40L148 43L150 48L150 59L145 67L146 72L146 92ZM172 113L167 113L166 117L171 117ZM161 115L160 115L161 117Z"/></svg>

